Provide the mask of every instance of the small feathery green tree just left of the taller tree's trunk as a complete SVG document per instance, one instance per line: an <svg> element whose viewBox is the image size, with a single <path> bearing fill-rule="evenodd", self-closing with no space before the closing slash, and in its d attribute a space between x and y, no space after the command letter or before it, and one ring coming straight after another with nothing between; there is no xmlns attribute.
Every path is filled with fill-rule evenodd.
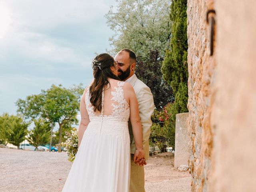
<svg viewBox="0 0 256 192"><path fill-rule="evenodd" d="M33 120L34 129L29 132L28 142L38 148L38 146L46 144L50 139L50 123L45 122L41 118Z"/></svg>

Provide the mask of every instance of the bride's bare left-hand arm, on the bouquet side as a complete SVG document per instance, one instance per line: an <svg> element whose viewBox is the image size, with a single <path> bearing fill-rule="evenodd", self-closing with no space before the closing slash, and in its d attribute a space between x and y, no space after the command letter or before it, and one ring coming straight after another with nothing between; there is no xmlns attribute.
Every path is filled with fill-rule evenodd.
<svg viewBox="0 0 256 192"><path fill-rule="evenodd" d="M86 90L84 90L84 93L83 93L82 98L80 100L81 121L80 121L79 128L78 128L78 148L81 144L81 140L83 138L84 131L86 130L86 128L87 128L87 126L90 122L89 115L88 115L88 112L86 110L85 93L86 93Z"/></svg>

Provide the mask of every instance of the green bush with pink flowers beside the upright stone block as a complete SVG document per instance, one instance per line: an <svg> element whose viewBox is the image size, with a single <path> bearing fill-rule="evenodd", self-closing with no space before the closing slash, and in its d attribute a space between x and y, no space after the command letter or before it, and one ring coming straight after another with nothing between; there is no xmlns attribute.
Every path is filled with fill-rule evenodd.
<svg viewBox="0 0 256 192"><path fill-rule="evenodd" d="M155 110L152 115L152 126L150 134L150 144L157 145L161 152L166 151L166 147L175 145L175 121L172 118L174 104L168 103L162 110Z"/></svg>

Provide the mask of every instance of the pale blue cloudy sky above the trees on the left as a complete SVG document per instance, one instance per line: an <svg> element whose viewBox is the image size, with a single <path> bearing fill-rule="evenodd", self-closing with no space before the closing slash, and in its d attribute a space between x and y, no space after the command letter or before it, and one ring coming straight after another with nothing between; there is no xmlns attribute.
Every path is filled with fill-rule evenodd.
<svg viewBox="0 0 256 192"><path fill-rule="evenodd" d="M0 115L52 84L88 86L110 48L104 15L116 0L0 0Z"/></svg>

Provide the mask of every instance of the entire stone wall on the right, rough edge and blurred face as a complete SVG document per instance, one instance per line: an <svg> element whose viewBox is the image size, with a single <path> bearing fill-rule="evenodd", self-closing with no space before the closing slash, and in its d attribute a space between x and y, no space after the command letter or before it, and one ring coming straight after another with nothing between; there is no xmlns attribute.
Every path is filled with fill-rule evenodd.
<svg viewBox="0 0 256 192"><path fill-rule="evenodd" d="M188 0L187 125L193 192L256 189L255 7L254 0ZM208 9L216 10L213 56Z"/></svg>

